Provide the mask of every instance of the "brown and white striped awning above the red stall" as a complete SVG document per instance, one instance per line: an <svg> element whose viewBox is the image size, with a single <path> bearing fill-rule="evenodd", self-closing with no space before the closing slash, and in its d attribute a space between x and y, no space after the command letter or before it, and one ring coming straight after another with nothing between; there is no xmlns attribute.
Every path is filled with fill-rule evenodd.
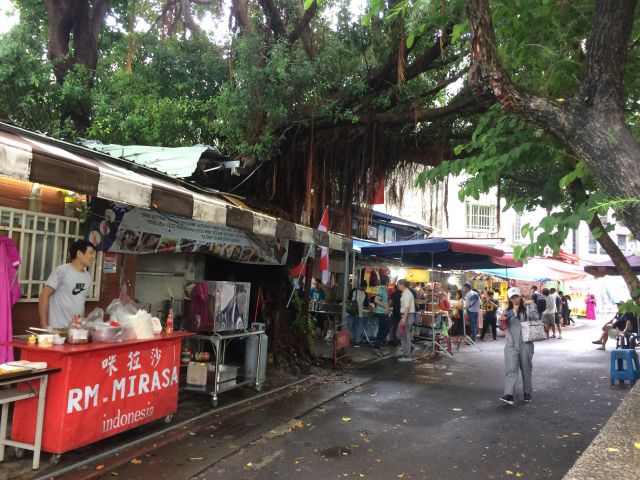
<svg viewBox="0 0 640 480"><path fill-rule="evenodd" d="M1 122L0 175L280 240L352 249L351 239L342 235L239 208L133 162Z"/></svg>

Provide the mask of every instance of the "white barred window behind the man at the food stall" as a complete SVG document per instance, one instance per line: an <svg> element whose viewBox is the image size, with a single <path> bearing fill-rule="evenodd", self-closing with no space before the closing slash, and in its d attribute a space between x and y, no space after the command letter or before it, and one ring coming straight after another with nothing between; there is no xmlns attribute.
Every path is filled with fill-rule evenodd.
<svg viewBox="0 0 640 480"><path fill-rule="evenodd" d="M77 218L0 207L0 231L11 237L22 258L18 279L20 302L37 302L51 272L68 260L69 246L84 238ZM92 285L87 300L100 299L102 252L89 271Z"/></svg>

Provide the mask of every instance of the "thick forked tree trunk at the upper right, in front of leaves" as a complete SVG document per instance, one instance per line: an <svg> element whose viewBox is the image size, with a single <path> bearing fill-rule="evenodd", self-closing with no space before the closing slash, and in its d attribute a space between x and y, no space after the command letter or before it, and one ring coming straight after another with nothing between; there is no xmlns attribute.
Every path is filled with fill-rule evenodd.
<svg viewBox="0 0 640 480"><path fill-rule="evenodd" d="M622 107L627 45L636 4L637 0L597 1L580 87L571 99L559 103L519 91L511 83L498 56L488 0L466 2L472 30L471 86L481 94L490 93L505 110L563 141L581 156L598 186L612 199L638 198L640 189L640 144L625 124ZM617 213L640 239L640 205ZM601 239L634 294L639 285L629 263L619 249L612 248L615 244L608 235Z"/></svg>

